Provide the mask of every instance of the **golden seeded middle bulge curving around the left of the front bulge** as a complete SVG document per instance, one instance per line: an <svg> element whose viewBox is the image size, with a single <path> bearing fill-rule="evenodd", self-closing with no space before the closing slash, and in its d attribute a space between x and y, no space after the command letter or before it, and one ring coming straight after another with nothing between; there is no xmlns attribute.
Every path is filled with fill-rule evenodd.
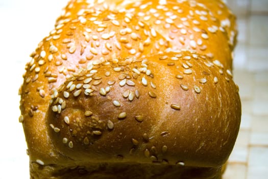
<svg viewBox="0 0 268 179"><path fill-rule="evenodd" d="M29 146L30 156L36 158L43 149L48 150L43 154L54 153L50 140L43 138L43 132L47 135L44 115L54 89L66 78L79 68L86 68L89 62L163 53L167 46L161 45L160 40L159 34L152 36L147 25L124 12L99 12L92 8L83 17L58 24L31 54L20 90L26 139L36 145Z"/></svg>

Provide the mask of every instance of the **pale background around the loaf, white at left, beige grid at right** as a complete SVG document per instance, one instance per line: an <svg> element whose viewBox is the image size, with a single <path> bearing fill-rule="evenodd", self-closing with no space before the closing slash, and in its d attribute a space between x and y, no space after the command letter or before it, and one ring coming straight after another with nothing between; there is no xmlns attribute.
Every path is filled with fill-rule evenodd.
<svg viewBox="0 0 268 179"><path fill-rule="evenodd" d="M67 0L0 0L0 179L29 178L18 122L18 88L30 53L53 29ZM266 179L268 171L268 0L228 0L238 16L234 80L242 122L223 179Z"/></svg>

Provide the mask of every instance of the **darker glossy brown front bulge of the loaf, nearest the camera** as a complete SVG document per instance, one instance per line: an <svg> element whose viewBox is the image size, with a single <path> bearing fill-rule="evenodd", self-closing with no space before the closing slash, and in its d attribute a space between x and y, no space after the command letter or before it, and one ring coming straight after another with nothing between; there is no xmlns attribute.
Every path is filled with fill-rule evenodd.
<svg viewBox="0 0 268 179"><path fill-rule="evenodd" d="M224 164L240 114L230 72L190 52L141 60L92 65L59 87L47 114L57 150L83 162Z"/></svg>

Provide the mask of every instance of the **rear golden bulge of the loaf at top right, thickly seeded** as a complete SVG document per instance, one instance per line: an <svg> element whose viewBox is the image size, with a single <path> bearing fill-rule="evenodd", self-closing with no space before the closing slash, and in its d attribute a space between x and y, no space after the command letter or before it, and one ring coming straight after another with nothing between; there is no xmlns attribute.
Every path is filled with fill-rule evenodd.
<svg viewBox="0 0 268 179"><path fill-rule="evenodd" d="M221 1L145 0L128 5L126 11L163 35L172 49L196 50L232 70L235 19Z"/></svg>

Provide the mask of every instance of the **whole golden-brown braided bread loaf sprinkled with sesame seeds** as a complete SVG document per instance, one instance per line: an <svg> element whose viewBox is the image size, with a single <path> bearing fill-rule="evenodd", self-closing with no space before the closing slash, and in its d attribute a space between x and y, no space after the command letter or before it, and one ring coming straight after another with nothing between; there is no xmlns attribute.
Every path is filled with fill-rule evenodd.
<svg viewBox="0 0 268 179"><path fill-rule="evenodd" d="M221 1L70 1L19 90L31 178L221 178L235 37Z"/></svg>

